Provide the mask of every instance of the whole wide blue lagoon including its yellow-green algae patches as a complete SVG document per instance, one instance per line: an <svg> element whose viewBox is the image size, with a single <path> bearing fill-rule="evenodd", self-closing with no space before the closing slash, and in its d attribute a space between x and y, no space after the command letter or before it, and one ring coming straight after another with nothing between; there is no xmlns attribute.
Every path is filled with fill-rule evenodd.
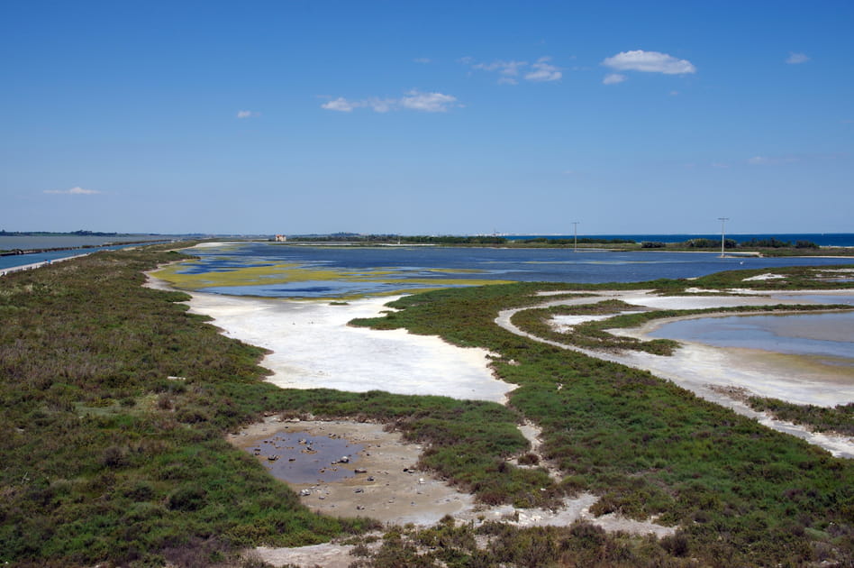
<svg viewBox="0 0 854 568"><path fill-rule="evenodd" d="M306 246L245 243L195 248L177 270L186 285L229 295L341 298L486 281L637 282L721 270L845 263L823 258L720 258L704 252L573 252L433 246Z"/></svg>

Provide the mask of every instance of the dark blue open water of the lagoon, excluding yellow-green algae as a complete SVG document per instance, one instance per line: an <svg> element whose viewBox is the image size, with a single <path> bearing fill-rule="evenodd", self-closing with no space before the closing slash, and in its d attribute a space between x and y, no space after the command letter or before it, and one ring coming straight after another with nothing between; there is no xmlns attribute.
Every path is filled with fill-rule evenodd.
<svg viewBox="0 0 854 568"><path fill-rule="evenodd" d="M573 252L567 249L500 249L454 247L282 246L248 243L227 249L194 249L201 261L186 273L206 273L247 266L293 263L305 268L330 270L393 270L383 279L499 279L552 282L638 282L652 279L695 278L721 270L763 269L783 266L848 264L854 259L720 258L703 252ZM473 273L457 270L477 270ZM323 296L332 282L271 283L261 288L208 289L228 294L283 298ZM337 281L341 285L341 281ZM386 285L387 286L387 285ZM418 284L417 286L424 286ZM413 286L417 287L417 286ZM305 290L301 290L303 288ZM407 288L400 286L399 288Z"/></svg>

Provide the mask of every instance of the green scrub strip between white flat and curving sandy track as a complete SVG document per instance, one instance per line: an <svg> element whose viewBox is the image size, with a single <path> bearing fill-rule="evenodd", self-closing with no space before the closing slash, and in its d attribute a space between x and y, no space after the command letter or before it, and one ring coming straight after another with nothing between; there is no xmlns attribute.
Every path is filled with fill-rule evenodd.
<svg viewBox="0 0 854 568"><path fill-rule="evenodd" d="M711 565L854 560L849 461L648 372L537 344L493 323L501 309L541 301L531 297L538 289L431 292L358 323L501 353L496 371L519 385L513 408L541 426L563 490L603 495L596 513L678 524L691 555Z"/></svg>

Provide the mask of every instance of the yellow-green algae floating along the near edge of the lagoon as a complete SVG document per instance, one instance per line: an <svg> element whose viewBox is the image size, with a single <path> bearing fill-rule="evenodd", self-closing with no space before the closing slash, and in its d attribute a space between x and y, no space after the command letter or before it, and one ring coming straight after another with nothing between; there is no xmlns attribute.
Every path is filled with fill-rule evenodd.
<svg viewBox="0 0 854 568"><path fill-rule="evenodd" d="M331 270L322 268L306 268L297 263L277 263L267 266L252 266L245 268L223 268L201 273L184 273L188 265L198 265L198 261L186 261L180 264L166 266L156 272L154 276L167 280L178 289L204 290L223 286L257 286L259 284L286 284L291 282L306 281L355 281L385 284L390 286L399 285L397 289L384 289L381 292L366 292L364 294L330 294L328 296L313 298L362 298L365 296L392 296L412 291L407 285L417 285L418 291L449 288L452 286L485 286L489 284L506 284L510 280L493 279L426 279L407 278L407 274L413 270L394 269L360 269L360 270ZM482 273L484 270L468 269L428 269L418 270L431 272L448 272L459 274ZM383 278L386 277L386 278ZM391 278L387 278L391 277Z"/></svg>

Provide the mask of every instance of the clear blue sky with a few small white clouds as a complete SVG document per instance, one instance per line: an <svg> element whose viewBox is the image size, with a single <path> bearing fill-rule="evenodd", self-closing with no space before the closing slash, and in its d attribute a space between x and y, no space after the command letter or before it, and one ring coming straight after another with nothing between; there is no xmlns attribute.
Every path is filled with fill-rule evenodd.
<svg viewBox="0 0 854 568"><path fill-rule="evenodd" d="M0 228L854 232L854 3L0 3Z"/></svg>

